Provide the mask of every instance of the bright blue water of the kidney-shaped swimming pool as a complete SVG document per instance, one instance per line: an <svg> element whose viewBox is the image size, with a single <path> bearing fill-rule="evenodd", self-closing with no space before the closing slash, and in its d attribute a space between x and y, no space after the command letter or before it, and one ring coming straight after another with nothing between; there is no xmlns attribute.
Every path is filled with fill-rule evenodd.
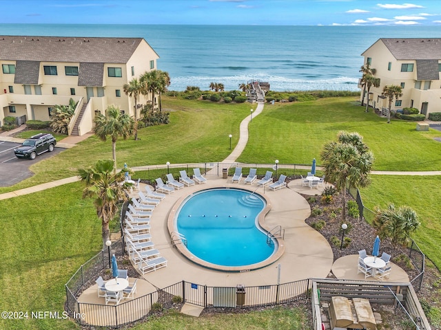
<svg viewBox="0 0 441 330"><path fill-rule="evenodd" d="M274 253L258 228L265 201L247 190L216 188L196 192L177 212L178 232L199 259L223 266L252 265Z"/></svg>

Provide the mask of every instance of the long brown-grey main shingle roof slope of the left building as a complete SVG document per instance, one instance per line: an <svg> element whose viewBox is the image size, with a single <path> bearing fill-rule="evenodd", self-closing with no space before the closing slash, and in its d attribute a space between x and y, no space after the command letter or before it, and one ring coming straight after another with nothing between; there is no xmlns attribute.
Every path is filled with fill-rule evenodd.
<svg viewBox="0 0 441 330"><path fill-rule="evenodd" d="M127 63L143 38L0 36L0 61Z"/></svg>

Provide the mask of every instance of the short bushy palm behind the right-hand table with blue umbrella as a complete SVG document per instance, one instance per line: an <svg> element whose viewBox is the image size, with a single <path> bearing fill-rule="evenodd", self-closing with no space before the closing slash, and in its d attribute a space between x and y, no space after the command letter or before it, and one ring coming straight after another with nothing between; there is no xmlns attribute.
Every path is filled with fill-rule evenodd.
<svg viewBox="0 0 441 330"><path fill-rule="evenodd" d="M405 245L409 242L409 235L420 226L418 216L409 206L400 206L398 210L393 203L389 203L385 210L376 208L373 226L381 239L389 238L393 245Z"/></svg>

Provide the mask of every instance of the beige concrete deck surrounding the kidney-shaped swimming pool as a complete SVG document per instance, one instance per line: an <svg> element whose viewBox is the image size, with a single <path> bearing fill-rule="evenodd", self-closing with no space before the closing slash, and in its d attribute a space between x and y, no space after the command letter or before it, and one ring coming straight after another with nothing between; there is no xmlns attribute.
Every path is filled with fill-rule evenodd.
<svg viewBox="0 0 441 330"><path fill-rule="evenodd" d="M185 258L170 242L167 229L167 218L179 199L192 192L215 187L244 188L256 190L271 201L271 210L265 217L267 228L281 225L285 229L285 253L271 265L252 272L219 272L196 265ZM141 190L144 186L141 184ZM320 193L320 192L318 192ZM154 248L167 259L167 267L143 276L154 287L163 288L180 281L198 285L235 287L274 285L278 281L278 264L280 263L280 283L298 281L304 278L325 278L331 271L334 255L329 243L320 233L305 223L311 209L307 201L291 188L269 190L249 186L243 183L232 184L229 179L207 177L206 184L200 184L175 190L167 195L155 208L150 220L150 233Z"/></svg>

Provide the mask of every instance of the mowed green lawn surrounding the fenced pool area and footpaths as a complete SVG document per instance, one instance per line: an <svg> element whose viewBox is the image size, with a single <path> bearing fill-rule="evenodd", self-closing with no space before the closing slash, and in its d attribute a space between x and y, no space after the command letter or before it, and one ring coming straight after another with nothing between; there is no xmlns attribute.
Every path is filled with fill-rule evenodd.
<svg viewBox="0 0 441 330"><path fill-rule="evenodd" d="M249 115L250 109L249 104L214 104L174 98L163 98L163 107L170 110L170 124L141 129L139 141L117 142L119 166L124 162L129 166L141 166L220 161L230 152L228 135L233 135L234 146L240 121ZM417 132L415 127L414 122L400 120L386 124L385 118L365 113L353 98L265 104L263 113L254 117L250 124L249 141L239 160L273 163L274 159L279 159L281 164L310 164L316 157L320 165L323 144L333 140L338 131L346 130L358 131L365 137L376 156L376 170L440 169L441 144L433 137L441 133ZM97 159L111 158L111 150L110 140L101 142L90 137L74 148L35 164L31 168L34 177L16 186L0 188L0 193L76 175L78 168L90 166ZM393 201L397 206L405 204L418 212L422 228L415 239L438 267L441 267L438 256L440 180L438 176L380 175L373 176L371 186L362 190L363 200L370 208ZM64 284L82 263L101 249L101 225L92 201L81 199L81 189L81 184L75 183L0 201L3 210L1 310L63 311ZM172 313L164 319L153 320L156 323L147 322L135 329L161 329L158 324L162 320L167 329L179 329L181 325L186 325L187 329L229 329L236 324L247 329L267 329L278 322L267 321L279 319L280 324L290 329L305 329L302 323L289 323L297 322L291 320L291 312L294 313L274 309L265 311L269 314L229 315L218 319L213 316L206 320ZM299 317L302 320L302 316ZM63 320L1 322L0 329L76 328L72 322Z"/></svg>

